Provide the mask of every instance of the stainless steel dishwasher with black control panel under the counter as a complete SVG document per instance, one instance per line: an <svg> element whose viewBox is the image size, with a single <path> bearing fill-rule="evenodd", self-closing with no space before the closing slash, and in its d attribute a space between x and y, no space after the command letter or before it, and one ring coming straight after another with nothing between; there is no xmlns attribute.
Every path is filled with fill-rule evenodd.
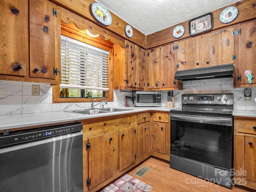
<svg viewBox="0 0 256 192"><path fill-rule="evenodd" d="M0 135L1 192L82 192L82 124Z"/></svg>

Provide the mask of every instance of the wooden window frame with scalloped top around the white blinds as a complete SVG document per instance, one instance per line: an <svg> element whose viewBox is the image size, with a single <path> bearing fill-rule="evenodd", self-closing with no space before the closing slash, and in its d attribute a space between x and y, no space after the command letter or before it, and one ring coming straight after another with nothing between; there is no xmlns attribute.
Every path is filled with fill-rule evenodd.
<svg viewBox="0 0 256 192"><path fill-rule="evenodd" d="M114 101L113 94L113 43L110 40L104 40L100 36L92 38L86 34L85 30L79 30L75 24L65 24L61 22L61 34L78 41L82 41L86 44L96 46L101 49L110 51L109 63L108 63L108 91L105 91L105 98L107 101ZM95 98L96 102L100 102L102 98ZM60 97L60 85L52 85L52 103L86 103L92 102L94 99L91 98L63 98Z"/></svg>

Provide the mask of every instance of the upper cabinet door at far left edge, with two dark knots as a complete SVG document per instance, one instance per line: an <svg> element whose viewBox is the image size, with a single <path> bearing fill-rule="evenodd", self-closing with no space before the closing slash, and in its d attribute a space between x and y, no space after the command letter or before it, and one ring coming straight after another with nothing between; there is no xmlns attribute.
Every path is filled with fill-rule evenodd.
<svg viewBox="0 0 256 192"><path fill-rule="evenodd" d="M0 74L26 75L26 0L0 1Z"/></svg>

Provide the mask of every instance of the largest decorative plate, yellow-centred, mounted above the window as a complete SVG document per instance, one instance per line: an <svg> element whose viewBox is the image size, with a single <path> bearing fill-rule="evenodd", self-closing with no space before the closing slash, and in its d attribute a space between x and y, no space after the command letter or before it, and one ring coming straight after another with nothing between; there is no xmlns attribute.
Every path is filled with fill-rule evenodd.
<svg viewBox="0 0 256 192"><path fill-rule="evenodd" d="M109 26L112 24L111 14L102 4L93 3L91 5L91 13L94 18L101 24L105 26Z"/></svg>

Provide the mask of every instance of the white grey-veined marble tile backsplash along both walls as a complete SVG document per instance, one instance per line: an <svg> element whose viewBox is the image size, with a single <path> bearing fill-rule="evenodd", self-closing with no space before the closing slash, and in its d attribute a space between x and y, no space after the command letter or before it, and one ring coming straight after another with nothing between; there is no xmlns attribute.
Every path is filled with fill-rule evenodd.
<svg viewBox="0 0 256 192"><path fill-rule="evenodd" d="M40 85L40 95L32 95L32 85ZM174 90L175 106L181 107L182 94L233 93L234 109L255 110L256 87L252 90L252 100L244 100L245 88L233 88L232 78L184 81L183 91ZM125 106L125 96L130 91L114 90L114 102L106 107ZM162 106L167 106L167 91L162 91ZM45 83L0 80L0 115L66 111L90 108L90 103L52 103L52 86Z"/></svg>

